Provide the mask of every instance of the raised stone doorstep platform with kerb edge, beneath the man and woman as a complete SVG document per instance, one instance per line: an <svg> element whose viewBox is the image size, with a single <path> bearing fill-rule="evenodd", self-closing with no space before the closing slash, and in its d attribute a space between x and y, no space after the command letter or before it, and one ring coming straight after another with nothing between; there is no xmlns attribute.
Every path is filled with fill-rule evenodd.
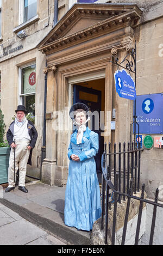
<svg viewBox="0 0 163 256"><path fill-rule="evenodd" d="M37 182L32 185L28 183L27 188L28 193L23 193L17 188L15 191L4 193L4 198L0 198L0 203L38 227L57 235L59 239L66 240L68 244L89 245L90 232L78 231L64 223L66 186L49 186ZM41 242L39 237L36 239L38 240L35 243Z"/></svg>

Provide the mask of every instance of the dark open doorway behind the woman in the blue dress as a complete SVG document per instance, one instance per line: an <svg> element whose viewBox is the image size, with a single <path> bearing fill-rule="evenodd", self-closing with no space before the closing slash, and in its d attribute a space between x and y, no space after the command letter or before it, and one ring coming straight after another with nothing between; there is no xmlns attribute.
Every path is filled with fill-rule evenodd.
<svg viewBox="0 0 163 256"><path fill-rule="evenodd" d="M105 78L73 84L73 103L87 105L93 113L98 112L98 124L92 115L91 130L98 133L99 150L95 156L99 183L101 184L101 156L104 151L104 109L105 109ZM96 116L97 117L97 116Z"/></svg>

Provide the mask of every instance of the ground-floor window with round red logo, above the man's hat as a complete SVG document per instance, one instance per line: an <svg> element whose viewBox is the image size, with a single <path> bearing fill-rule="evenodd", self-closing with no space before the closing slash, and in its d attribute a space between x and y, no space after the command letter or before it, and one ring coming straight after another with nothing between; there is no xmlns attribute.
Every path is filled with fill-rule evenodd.
<svg viewBox="0 0 163 256"><path fill-rule="evenodd" d="M28 113L35 115L36 65L21 68L20 78L20 103L26 106Z"/></svg>

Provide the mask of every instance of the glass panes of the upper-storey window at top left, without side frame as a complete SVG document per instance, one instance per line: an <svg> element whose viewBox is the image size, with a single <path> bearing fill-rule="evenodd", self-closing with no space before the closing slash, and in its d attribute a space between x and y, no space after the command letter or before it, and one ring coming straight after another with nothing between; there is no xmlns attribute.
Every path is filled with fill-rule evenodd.
<svg viewBox="0 0 163 256"><path fill-rule="evenodd" d="M32 19L37 14L37 0L24 0L23 22Z"/></svg>

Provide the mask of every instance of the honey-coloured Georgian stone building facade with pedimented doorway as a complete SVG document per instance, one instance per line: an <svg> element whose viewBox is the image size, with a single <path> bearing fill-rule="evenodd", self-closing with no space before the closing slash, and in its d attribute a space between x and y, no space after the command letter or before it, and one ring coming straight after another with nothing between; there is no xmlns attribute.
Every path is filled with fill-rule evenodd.
<svg viewBox="0 0 163 256"><path fill-rule="evenodd" d="M21 0L2 1L1 108L7 126L20 103L35 114L39 138L28 174L40 176L46 132L42 182L62 186L67 180L68 111L73 102L83 100L92 111L104 113L99 124L100 153L104 142L129 141L133 101L116 93L117 67L111 61L115 56L123 59L135 40L136 94L162 93L163 4L131 0L56 2L58 8L47 0L31 1L31 6ZM115 128L111 121L115 121ZM146 184L148 197L163 186L162 155L161 148L143 151L141 181Z"/></svg>

